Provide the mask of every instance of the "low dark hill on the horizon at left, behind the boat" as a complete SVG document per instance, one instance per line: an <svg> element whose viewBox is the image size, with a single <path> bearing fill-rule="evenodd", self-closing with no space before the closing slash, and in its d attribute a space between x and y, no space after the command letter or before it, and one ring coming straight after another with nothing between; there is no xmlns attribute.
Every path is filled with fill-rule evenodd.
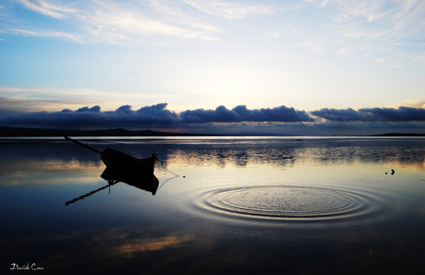
<svg viewBox="0 0 425 275"><path fill-rule="evenodd" d="M25 136L212 136L203 134L167 133L164 131L129 131L123 128L105 130L36 129L0 126L1 137Z"/></svg>

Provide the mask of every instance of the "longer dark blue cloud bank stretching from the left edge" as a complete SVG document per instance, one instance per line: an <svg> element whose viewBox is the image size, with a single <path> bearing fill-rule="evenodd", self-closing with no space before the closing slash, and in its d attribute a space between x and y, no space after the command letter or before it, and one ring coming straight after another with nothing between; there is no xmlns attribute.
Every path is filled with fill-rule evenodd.
<svg viewBox="0 0 425 275"><path fill-rule="evenodd" d="M14 127L47 127L63 129L106 129L128 127L176 127L184 124L210 122L314 122L305 111L292 107L274 107L249 110L244 105L228 110L224 106L215 110L186 110L181 114L166 110L167 103L132 110L123 105L115 111L101 112L100 106L64 109L61 112L33 112L0 118L0 125Z"/></svg>

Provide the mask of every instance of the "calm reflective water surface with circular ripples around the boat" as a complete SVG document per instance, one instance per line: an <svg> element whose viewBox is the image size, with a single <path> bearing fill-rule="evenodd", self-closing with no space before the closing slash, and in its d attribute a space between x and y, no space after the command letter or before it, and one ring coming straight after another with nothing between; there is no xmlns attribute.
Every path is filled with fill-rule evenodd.
<svg viewBox="0 0 425 275"><path fill-rule="evenodd" d="M1 139L1 274L424 270L425 139L79 140L159 151L159 188L109 186L66 140Z"/></svg>

